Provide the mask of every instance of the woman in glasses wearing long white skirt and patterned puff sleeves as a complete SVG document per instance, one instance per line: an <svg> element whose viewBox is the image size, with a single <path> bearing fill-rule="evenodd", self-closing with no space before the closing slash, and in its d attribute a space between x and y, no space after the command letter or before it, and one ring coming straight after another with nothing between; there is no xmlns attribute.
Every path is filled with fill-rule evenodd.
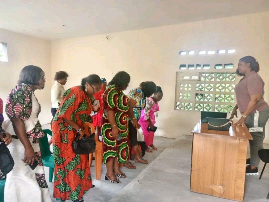
<svg viewBox="0 0 269 202"><path fill-rule="evenodd" d="M2 123L2 128L12 135L8 148L15 165L6 176L5 201L51 202L38 144L38 138L45 136L38 121L41 107L34 94L44 85L44 71L29 65L21 70L18 85L7 97L9 119Z"/></svg>

